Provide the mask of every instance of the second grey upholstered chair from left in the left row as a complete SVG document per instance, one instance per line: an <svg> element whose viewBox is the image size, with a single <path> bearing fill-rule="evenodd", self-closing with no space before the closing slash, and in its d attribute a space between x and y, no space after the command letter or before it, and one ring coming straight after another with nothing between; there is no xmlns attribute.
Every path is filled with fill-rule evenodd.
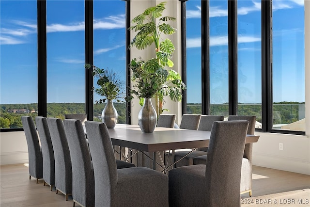
<svg viewBox="0 0 310 207"><path fill-rule="evenodd" d="M55 159L52 140L50 139L47 118L43 116L35 117L35 123L39 133L42 157L43 157L43 185L49 185L50 191L55 185Z"/></svg>

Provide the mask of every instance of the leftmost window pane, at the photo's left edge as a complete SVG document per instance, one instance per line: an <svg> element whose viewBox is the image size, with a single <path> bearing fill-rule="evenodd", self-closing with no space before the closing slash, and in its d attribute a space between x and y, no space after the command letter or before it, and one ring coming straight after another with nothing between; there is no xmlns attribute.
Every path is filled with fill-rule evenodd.
<svg viewBox="0 0 310 207"><path fill-rule="evenodd" d="M37 2L0 1L0 128L37 116Z"/></svg>

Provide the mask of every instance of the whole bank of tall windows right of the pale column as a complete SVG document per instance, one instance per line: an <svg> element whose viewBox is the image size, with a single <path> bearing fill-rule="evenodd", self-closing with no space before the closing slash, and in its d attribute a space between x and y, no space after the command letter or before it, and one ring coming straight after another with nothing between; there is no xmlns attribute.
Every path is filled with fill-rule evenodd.
<svg viewBox="0 0 310 207"><path fill-rule="evenodd" d="M255 115L256 128L262 131L303 134L304 1L208 2L209 22L202 21L203 6L199 1L186 1L187 106L183 113L202 113L207 109L209 114L226 117ZM203 36L201 28L209 28L209 36ZM203 62L207 58L199 54L206 42L210 50L207 64ZM206 92L201 91L202 85L197 81L204 72L201 63L210 67L208 77L202 79L210 90Z"/></svg>

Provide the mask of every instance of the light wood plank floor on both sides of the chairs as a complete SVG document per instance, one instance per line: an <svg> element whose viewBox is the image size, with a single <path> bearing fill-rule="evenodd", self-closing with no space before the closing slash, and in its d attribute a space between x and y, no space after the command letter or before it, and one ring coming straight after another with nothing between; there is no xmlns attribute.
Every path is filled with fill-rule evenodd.
<svg viewBox="0 0 310 207"><path fill-rule="evenodd" d="M72 207L72 197L50 191L40 179L29 180L23 164L0 166L1 207ZM252 197L241 195L242 207L310 206L310 175L253 166ZM294 203L293 203L294 202ZM299 203L298 203L299 202ZM76 205L78 206L78 205Z"/></svg>

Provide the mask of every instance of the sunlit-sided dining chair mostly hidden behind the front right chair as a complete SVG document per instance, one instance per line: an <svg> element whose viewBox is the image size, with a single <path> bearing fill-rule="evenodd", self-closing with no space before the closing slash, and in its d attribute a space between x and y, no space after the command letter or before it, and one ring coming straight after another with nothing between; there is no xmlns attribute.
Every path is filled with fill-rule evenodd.
<svg viewBox="0 0 310 207"><path fill-rule="evenodd" d="M256 116L238 116L238 115L228 116L228 121L238 121L238 120L247 120L249 122L247 133L251 135L254 134ZM248 192L249 196L252 196L252 148L253 143L247 143L245 145L242 159L242 168L241 168L240 192L241 194ZM193 159L193 163L204 164L206 158L207 158L206 155L195 157Z"/></svg>

